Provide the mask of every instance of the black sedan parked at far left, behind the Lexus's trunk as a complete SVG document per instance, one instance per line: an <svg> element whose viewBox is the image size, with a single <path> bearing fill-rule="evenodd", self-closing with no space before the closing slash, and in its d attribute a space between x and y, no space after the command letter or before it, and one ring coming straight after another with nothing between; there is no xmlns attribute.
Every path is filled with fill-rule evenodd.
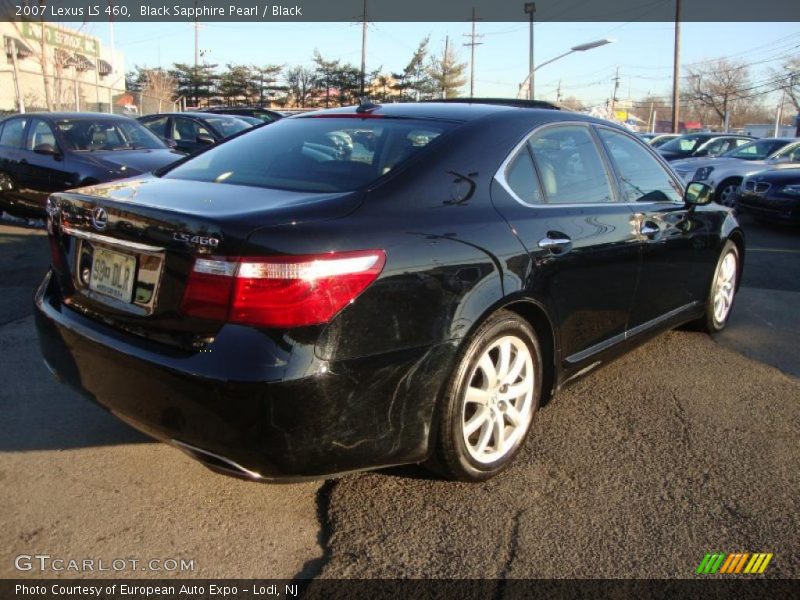
<svg viewBox="0 0 800 600"><path fill-rule="evenodd" d="M0 209L44 216L47 196L133 177L181 158L128 117L28 113L0 121Z"/></svg>

